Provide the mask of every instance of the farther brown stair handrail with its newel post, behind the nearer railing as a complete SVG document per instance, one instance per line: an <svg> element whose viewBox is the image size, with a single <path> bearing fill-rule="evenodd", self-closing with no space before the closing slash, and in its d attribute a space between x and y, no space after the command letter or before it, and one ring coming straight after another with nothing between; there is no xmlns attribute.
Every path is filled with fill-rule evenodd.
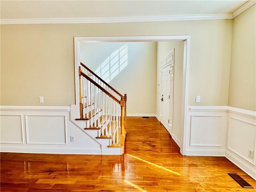
<svg viewBox="0 0 256 192"><path fill-rule="evenodd" d="M110 94L112 94L116 98L124 97L124 127L127 128L127 124L126 124L126 122L127 122L127 112L126 112L127 95L126 94L122 95L120 92L118 92L116 89L114 89L112 86L110 86L106 81L104 81L100 76L98 76L95 72L93 72L90 68L88 68L82 62L80 62L80 65L82 66L81 70L82 70L82 72L84 72L84 74L86 74L92 80L97 82L100 86L105 88L108 92L110 92ZM82 81L82 84L83 83L84 82ZM87 87L87 88L90 88L90 87ZM86 96L86 89L84 90L84 93L82 96L84 96L84 97Z"/></svg>

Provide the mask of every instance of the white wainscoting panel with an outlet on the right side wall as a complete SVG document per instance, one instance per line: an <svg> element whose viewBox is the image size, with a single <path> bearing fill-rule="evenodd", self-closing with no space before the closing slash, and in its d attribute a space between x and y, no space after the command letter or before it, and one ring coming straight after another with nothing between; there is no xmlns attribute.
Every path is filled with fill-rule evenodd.
<svg viewBox="0 0 256 192"><path fill-rule="evenodd" d="M256 125L230 116L228 132L228 149L255 165L248 153L255 151Z"/></svg>

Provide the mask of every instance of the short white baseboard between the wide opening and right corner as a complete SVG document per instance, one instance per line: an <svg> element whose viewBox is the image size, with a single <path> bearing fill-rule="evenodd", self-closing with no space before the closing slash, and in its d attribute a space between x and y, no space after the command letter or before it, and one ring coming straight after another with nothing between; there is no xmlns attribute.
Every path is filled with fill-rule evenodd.
<svg viewBox="0 0 256 192"><path fill-rule="evenodd" d="M187 149L187 156L217 156L224 157L225 150L213 150L213 149Z"/></svg>

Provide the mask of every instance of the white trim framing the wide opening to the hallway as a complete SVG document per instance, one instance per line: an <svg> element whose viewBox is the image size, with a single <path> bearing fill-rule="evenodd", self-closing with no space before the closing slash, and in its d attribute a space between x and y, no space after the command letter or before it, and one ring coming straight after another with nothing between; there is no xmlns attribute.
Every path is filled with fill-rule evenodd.
<svg viewBox="0 0 256 192"><path fill-rule="evenodd" d="M74 37L74 62L75 62L75 92L76 106L79 105L78 92L78 66L80 65L80 42L159 42L159 41L184 41L183 78L182 78L182 141L180 153L186 155L186 127L188 108L188 78L190 61L190 35L175 36L112 36L112 37Z"/></svg>

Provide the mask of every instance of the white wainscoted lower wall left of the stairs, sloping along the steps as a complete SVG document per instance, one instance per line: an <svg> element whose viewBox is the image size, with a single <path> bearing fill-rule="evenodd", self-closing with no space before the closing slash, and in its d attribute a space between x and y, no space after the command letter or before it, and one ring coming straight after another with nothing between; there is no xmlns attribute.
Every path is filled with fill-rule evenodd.
<svg viewBox="0 0 256 192"><path fill-rule="evenodd" d="M1 106L0 111L1 152L102 154L101 145L70 121L69 106Z"/></svg>

